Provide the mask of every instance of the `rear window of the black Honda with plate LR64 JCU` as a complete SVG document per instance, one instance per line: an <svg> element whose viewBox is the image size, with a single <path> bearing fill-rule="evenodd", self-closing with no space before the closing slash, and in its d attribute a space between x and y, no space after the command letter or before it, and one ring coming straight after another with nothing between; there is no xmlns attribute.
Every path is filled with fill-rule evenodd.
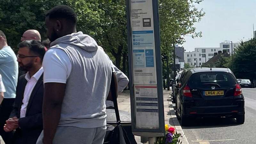
<svg viewBox="0 0 256 144"><path fill-rule="evenodd" d="M208 84L220 87L232 87L236 84L234 76L226 72L200 72L193 74L189 79L189 87L208 87Z"/></svg>

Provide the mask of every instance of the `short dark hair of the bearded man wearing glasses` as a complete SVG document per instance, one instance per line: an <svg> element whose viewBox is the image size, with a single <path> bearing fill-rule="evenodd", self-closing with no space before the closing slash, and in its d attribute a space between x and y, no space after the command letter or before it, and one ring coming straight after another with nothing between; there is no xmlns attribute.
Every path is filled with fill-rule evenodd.
<svg viewBox="0 0 256 144"><path fill-rule="evenodd" d="M25 40L20 42L18 44L18 48L23 48L23 47L28 47L29 52L32 52L36 56L41 58L41 61L43 61L44 54L45 54L45 49L44 45L38 41L38 40Z"/></svg>

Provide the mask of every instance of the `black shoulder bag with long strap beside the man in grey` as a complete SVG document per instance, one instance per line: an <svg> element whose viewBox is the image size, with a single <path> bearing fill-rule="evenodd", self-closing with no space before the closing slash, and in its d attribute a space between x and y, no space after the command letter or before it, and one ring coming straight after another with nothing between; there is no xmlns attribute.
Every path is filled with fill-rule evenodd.
<svg viewBox="0 0 256 144"><path fill-rule="evenodd" d="M123 126L121 125L118 106L117 106L117 78L115 72L112 72L111 77L111 96L114 103L115 113L116 113L116 126L107 125L107 132L104 138L104 144L131 144L127 133L125 132Z"/></svg>

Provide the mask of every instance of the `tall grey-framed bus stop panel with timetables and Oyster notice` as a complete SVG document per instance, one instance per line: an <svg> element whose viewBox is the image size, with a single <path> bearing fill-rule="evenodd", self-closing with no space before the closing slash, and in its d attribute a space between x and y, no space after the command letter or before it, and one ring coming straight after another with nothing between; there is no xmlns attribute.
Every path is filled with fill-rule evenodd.
<svg viewBox="0 0 256 144"><path fill-rule="evenodd" d="M164 110L158 1L127 0L127 10L132 131L160 136Z"/></svg>

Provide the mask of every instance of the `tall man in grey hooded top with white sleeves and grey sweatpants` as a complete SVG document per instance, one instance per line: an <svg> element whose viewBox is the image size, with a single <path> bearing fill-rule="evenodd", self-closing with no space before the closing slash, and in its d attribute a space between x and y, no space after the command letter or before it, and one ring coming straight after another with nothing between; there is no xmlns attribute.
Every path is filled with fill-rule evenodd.
<svg viewBox="0 0 256 144"><path fill-rule="evenodd" d="M111 63L95 40L76 32L76 13L58 5L46 14L43 135L37 143L102 144Z"/></svg>

